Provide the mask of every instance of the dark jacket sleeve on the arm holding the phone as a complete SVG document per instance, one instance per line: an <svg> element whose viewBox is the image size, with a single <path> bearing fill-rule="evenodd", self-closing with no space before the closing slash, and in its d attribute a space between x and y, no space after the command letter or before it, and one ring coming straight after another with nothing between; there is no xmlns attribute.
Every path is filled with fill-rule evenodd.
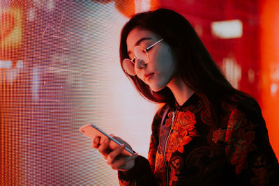
<svg viewBox="0 0 279 186"><path fill-rule="evenodd" d="M158 147L160 123L162 121L164 109L165 106L159 109L153 118L148 160L139 155L135 159L135 166L132 169L129 171L118 171L119 185L156 185L156 178L153 176L153 172Z"/></svg>

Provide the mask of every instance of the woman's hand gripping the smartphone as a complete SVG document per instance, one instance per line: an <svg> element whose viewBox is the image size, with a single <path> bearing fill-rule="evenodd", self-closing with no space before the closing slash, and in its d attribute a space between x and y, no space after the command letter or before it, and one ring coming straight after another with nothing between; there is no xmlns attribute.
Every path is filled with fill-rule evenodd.
<svg viewBox="0 0 279 186"><path fill-rule="evenodd" d="M121 153L125 149L125 146L132 149L126 141L123 141L119 137L114 137L110 135L117 141L121 142L121 146L113 149L112 151L109 149L110 139L105 139L101 142L100 137L96 137L93 139L92 147L97 148L101 155L103 155L104 159L107 160L107 164L109 164L112 169L119 171L128 171L135 166L135 158L137 157L137 153L131 156L123 156ZM110 150L110 151L109 151Z"/></svg>

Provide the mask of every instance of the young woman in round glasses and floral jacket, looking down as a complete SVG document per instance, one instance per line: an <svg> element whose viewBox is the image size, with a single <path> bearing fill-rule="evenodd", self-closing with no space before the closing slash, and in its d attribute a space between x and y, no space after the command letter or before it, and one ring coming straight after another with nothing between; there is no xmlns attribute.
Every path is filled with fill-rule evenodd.
<svg viewBox="0 0 279 186"><path fill-rule="evenodd" d="M148 160L93 140L120 185L279 185L259 105L229 84L183 16L135 15L121 32L120 59L144 98L165 103L153 119Z"/></svg>

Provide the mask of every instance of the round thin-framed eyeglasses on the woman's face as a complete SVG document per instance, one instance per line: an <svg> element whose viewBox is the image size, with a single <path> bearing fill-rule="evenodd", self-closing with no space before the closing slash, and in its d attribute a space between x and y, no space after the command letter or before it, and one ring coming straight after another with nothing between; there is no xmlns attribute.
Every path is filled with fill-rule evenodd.
<svg viewBox="0 0 279 186"><path fill-rule="evenodd" d="M149 47L146 47L145 49L141 46L135 46L134 48L134 54L135 56L133 59L123 59L122 65L125 73L127 73L130 76L135 76L135 63L136 59L138 63L142 63L142 65L146 65L149 62L149 54L147 53L149 49L154 47L156 44L161 42L163 39L158 40L157 42L153 43Z"/></svg>

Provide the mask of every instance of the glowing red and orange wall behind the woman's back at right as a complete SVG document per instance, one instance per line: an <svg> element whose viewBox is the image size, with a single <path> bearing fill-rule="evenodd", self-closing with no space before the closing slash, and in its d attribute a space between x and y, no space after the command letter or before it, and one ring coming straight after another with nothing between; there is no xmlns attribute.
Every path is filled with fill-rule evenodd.
<svg viewBox="0 0 279 186"><path fill-rule="evenodd" d="M241 78L234 83L259 102L271 146L279 157L278 1L152 0L151 5L152 8L170 8L184 15L223 70L224 59L234 59L236 65L240 65ZM211 22L225 20L241 20L241 38L220 39L213 36Z"/></svg>

